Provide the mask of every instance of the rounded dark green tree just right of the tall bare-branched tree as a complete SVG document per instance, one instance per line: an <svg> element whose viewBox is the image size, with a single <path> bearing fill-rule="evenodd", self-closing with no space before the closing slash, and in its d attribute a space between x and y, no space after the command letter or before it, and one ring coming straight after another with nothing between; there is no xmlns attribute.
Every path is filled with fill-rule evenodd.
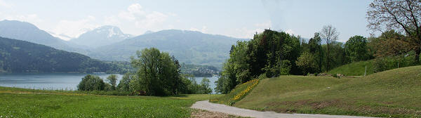
<svg viewBox="0 0 421 118"><path fill-rule="evenodd" d="M368 60L367 38L354 36L345 43L345 53L351 61Z"/></svg>

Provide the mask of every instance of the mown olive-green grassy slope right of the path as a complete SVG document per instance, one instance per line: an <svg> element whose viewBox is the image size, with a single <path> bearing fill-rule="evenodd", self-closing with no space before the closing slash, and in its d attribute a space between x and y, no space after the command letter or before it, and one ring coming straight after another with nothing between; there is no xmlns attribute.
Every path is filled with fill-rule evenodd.
<svg viewBox="0 0 421 118"><path fill-rule="evenodd" d="M275 112L421 117L421 66L361 78L262 79L234 106Z"/></svg>

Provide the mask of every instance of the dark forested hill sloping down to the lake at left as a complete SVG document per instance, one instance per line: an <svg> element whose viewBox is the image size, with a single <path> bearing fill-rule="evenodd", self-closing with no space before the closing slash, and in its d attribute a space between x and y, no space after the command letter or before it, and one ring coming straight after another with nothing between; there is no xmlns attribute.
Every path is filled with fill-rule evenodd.
<svg viewBox="0 0 421 118"><path fill-rule="evenodd" d="M117 67L86 55L0 37L0 72L116 72Z"/></svg>

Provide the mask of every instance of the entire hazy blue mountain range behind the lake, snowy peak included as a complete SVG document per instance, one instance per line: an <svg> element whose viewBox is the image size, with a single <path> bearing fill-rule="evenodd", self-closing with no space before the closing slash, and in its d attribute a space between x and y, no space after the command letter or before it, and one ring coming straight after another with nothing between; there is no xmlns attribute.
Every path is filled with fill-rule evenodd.
<svg viewBox="0 0 421 118"><path fill-rule="evenodd" d="M99 60L128 61L136 51L155 47L174 55L181 63L217 67L228 58L236 41L247 40L179 29L148 31L133 37L121 32L119 27L103 26L64 41L35 25L16 20L0 21L0 37L43 44Z"/></svg>

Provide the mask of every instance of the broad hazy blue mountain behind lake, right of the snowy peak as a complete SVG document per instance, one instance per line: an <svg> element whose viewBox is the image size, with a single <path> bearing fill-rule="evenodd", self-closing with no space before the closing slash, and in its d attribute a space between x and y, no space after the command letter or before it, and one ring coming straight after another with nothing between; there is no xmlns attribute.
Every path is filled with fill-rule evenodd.
<svg viewBox="0 0 421 118"><path fill-rule="evenodd" d="M102 46L88 55L100 60L130 60L136 51L155 47L174 55L182 63L221 67L229 57L231 46L239 40L246 39L168 29Z"/></svg>

